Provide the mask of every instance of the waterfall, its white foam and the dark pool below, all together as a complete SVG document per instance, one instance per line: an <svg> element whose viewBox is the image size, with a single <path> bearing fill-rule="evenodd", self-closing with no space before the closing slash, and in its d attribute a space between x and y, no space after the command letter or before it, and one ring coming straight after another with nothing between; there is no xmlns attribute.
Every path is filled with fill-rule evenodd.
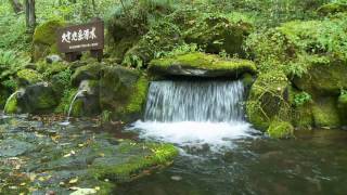
<svg viewBox="0 0 347 195"><path fill-rule="evenodd" d="M128 130L180 148L162 172L120 186L125 195L345 194L347 132L252 129L241 81L152 82L143 121Z"/></svg>

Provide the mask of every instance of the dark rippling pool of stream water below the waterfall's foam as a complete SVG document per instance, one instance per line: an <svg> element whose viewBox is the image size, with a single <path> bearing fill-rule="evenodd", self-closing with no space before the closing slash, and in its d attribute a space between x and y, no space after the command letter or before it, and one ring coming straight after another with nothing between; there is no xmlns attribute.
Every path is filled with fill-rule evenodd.
<svg viewBox="0 0 347 195"><path fill-rule="evenodd" d="M181 146L181 155L174 166L123 186L120 194L330 195L347 192L346 131L297 131L293 140L272 140L253 133L230 141L230 145L218 153L208 145Z"/></svg>

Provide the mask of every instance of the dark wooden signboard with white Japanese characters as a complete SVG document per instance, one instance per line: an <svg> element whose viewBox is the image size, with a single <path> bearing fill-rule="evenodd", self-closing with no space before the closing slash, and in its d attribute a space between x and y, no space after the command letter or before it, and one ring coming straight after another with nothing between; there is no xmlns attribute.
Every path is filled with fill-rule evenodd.
<svg viewBox="0 0 347 195"><path fill-rule="evenodd" d="M65 53L67 61L76 61L78 53L90 51L101 61L104 49L104 23L101 20L81 25L60 28L56 31L57 49Z"/></svg>

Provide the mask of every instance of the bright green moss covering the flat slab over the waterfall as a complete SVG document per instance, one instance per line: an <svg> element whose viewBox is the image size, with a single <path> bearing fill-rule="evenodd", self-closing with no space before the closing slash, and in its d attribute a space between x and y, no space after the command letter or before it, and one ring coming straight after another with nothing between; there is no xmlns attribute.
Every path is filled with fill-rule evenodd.
<svg viewBox="0 0 347 195"><path fill-rule="evenodd" d="M174 66L217 72L226 70L237 74L255 74L257 72L255 64L250 61L240 58L224 60L219 57L218 55L205 54L201 52L153 60L150 63L149 70L151 73L168 72Z"/></svg>

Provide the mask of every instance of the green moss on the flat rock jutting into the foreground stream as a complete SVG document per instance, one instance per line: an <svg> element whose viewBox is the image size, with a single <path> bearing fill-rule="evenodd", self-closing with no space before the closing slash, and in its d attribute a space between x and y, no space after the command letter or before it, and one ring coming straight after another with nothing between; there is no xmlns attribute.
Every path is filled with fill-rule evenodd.
<svg viewBox="0 0 347 195"><path fill-rule="evenodd" d="M146 169L167 166L178 155L177 148L171 144L123 142L120 147L123 153L141 148L141 153L145 155L137 155L120 165L92 166L90 173L101 180L107 178L116 182L131 181Z"/></svg>

